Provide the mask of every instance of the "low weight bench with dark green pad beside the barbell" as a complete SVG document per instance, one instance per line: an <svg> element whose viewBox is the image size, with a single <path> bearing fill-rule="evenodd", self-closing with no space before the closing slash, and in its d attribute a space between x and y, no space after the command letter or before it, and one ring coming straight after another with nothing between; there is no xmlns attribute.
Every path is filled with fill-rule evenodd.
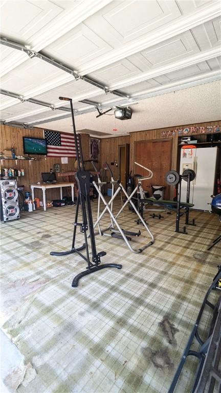
<svg viewBox="0 0 221 393"><path fill-rule="evenodd" d="M195 220L192 220L192 223L189 222L189 209L192 208L194 205L192 203L188 203L188 202L180 202L180 201L167 201L167 200L156 200L153 197L150 198L145 198L145 199L140 199L140 214L143 218L143 210L144 206L147 205L157 205L157 206L161 206L166 210L170 210L170 211L175 211L176 212L176 227L175 227L175 232L179 232L179 233L185 233L186 232L186 226L184 226L183 231L181 232L179 230L180 227L180 217L182 215L186 215L186 225L195 225ZM183 213L180 212L181 209L184 209L185 211Z"/></svg>

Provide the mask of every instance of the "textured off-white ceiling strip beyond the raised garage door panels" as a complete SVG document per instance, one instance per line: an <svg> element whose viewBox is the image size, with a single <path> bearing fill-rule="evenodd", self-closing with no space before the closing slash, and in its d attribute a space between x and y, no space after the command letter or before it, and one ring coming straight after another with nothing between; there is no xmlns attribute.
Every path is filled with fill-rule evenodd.
<svg viewBox="0 0 221 393"><path fill-rule="evenodd" d="M107 115L96 119L94 112L76 116L76 129L91 128L120 136L146 129L220 120L220 86L220 81L216 81L139 101L131 106L130 120L122 121ZM52 124L53 129L58 131L73 132L71 118L44 123L40 127L51 128ZM113 128L118 131L113 131Z"/></svg>

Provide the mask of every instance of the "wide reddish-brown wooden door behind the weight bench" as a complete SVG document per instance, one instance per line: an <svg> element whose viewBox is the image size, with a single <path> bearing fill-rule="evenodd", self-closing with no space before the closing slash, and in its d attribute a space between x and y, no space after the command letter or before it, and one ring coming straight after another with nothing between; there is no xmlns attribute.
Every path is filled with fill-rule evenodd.
<svg viewBox="0 0 221 393"><path fill-rule="evenodd" d="M171 165L172 140L142 141L135 146L135 161L153 172L150 180L142 182L143 189L151 195L150 185L165 186L164 199L170 199L170 187L166 184L164 176ZM135 165L135 173L145 176L147 171Z"/></svg>

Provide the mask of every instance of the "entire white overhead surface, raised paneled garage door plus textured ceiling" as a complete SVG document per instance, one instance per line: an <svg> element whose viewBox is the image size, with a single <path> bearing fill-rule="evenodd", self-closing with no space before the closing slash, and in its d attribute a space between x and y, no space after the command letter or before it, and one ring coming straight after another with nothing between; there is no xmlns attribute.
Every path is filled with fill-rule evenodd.
<svg viewBox="0 0 221 393"><path fill-rule="evenodd" d="M1 35L6 124L69 131L59 96L73 99L77 129L94 135L220 118L219 0L5 0ZM103 111L129 105L132 119L96 118L82 100Z"/></svg>

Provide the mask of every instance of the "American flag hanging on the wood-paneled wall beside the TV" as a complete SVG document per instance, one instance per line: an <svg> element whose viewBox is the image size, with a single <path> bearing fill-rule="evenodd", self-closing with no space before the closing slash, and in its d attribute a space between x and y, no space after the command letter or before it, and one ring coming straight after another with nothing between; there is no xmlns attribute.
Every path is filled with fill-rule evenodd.
<svg viewBox="0 0 221 393"><path fill-rule="evenodd" d="M76 157L74 135L45 129L47 157Z"/></svg>

